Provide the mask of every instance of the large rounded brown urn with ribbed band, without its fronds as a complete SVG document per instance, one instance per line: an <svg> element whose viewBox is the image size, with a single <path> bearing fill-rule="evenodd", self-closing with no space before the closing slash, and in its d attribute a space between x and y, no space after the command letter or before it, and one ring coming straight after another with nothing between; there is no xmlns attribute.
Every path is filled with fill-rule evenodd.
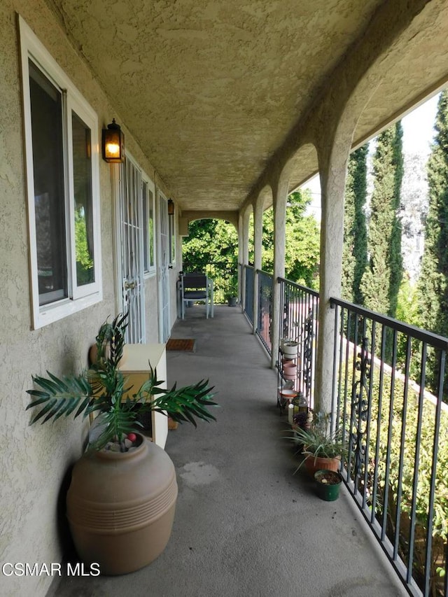
<svg viewBox="0 0 448 597"><path fill-rule="evenodd" d="M171 535L177 498L174 465L137 434L132 451L92 451L73 468L67 517L80 559L105 575L139 570Z"/></svg>

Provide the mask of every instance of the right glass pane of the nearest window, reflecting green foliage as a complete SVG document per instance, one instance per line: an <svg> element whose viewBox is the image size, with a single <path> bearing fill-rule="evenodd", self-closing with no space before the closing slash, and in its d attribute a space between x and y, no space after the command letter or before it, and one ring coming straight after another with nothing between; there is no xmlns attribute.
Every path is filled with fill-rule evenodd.
<svg viewBox="0 0 448 597"><path fill-rule="evenodd" d="M75 218L76 283L95 281L93 262L92 153L90 128L71 113L73 138L73 189Z"/></svg>

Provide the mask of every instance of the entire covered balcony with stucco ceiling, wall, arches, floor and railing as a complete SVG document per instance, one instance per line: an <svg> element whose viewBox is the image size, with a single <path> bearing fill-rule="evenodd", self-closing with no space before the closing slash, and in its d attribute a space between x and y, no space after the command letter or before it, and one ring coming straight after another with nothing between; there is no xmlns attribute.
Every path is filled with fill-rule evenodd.
<svg viewBox="0 0 448 597"><path fill-rule="evenodd" d="M209 377L221 404L216 425L169 435L181 496L172 540L153 565L59 585L1 578L10 596L43 596L53 583L58 597L370 597L402 587L447 597L446 543L434 538L448 532L448 498L437 493L448 444L440 435L447 340L341 300L349 155L447 84L447 1L3 0L0 19L3 559L64 558L55 513L86 430L80 421L29 428L26 390L32 374L86 367L94 330L108 316L132 311L132 343L196 339L195 353L169 353L168 381ZM41 113L41 92L56 106L57 167L46 162L50 120L45 139L33 136L33 122L45 120L31 118ZM106 152L103 160L99 143L113 119L125 136L116 144L120 163L107 163ZM73 122L83 134L73 136ZM75 137L90 164L92 287L76 278ZM48 191L34 177L41 157L41 171L58 183L50 188L58 222L67 218L53 234L54 291L49 270L38 267L48 240L45 226L36 234L34 211ZM317 173L320 286L309 293L284 279L286 205ZM271 206L266 274L262 214ZM50 210L44 216L55 219ZM237 229L243 312L216 306L206 319L194 307L178 321L181 237L202 218ZM335 505L293 475L297 456L282 437L279 400L284 337L306 339L297 393L349 444ZM424 384L428 355L439 363L433 398ZM420 383L412 398L411 378ZM417 524L422 517L426 526Z"/></svg>

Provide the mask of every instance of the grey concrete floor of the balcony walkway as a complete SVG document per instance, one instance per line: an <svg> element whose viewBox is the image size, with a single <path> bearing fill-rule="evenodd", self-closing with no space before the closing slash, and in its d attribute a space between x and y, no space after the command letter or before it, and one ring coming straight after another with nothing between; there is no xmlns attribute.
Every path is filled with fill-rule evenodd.
<svg viewBox="0 0 448 597"><path fill-rule="evenodd" d="M407 595L356 506L314 495L281 438L276 373L238 307L186 309L167 353L169 384L208 377L216 423L169 432L179 498L172 538L150 566L121 577L63 578L57 597L391 597ZM117 549L120 549L119 542Z"/></svg>

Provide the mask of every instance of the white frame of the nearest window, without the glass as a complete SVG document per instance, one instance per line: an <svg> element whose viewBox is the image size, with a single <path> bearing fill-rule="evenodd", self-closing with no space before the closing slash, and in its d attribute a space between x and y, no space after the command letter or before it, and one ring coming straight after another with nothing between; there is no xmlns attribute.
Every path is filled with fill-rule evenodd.
<svg viewBox="0 0 448 597"><path fill-rule="evenodd" d="M34 35L26 22L19 16L20 52L22 59L22 95L25 120L25 159L27 173L27 203L29 227L29 253L31 276L31 311L34 329L59 321L82 309L100 302L102 295L102 256L100 238L99 205L99 126L98 117L92 107L52 58L48 50ZM62 92L65 163L65 213L66 213L66 267L68 297L45 305L39 304L38 267L36 248L36 214L34 209L34 166L31 132L31 101L29 92L29 66L31 59L45 77ZM92 150L92 219L93 219L93 261L95 280L78 286L76 283L76 255L74 234L74 191L73 151L71 137L72 111L90 128Z"/></svg>

